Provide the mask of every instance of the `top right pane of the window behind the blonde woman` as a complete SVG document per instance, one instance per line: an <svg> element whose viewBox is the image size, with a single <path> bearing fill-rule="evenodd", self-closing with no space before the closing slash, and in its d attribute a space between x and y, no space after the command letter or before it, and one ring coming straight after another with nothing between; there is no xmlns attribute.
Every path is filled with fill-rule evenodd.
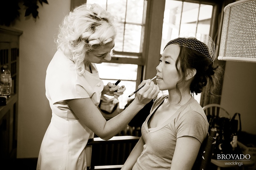
<svg viewBox="0 0 256 170"><path fill-rule="evenodd" d="M142 24L144 0L127 0L126 22Z"/></svg>

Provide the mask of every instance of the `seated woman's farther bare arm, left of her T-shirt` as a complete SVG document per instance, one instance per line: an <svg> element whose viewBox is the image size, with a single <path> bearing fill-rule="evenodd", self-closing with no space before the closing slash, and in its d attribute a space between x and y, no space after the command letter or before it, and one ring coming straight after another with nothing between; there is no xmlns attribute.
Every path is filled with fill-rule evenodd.
<svg viewBox="0 0 256 170"><path fill-rule="evenodd" d="M131 170L134 164L136 163L138 157L140 156L141 152L143 151L143 146L145 142L142 137L140 137L138 143L132 149L129 157L126 159L123 167L121 170Z"/></svg>

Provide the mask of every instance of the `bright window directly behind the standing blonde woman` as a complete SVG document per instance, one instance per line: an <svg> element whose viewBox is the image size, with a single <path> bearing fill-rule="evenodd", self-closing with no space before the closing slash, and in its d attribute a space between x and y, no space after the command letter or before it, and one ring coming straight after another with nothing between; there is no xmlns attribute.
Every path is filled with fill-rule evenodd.
<svg viewBox="0 0 256 170"><path fill-rule="evenodd" d="M125 85L124 94L118 98L119 106L123 109L128 99L135 97L135 95L130 98L128 96L141 83L147 1L87 0L87 3L97 3L118 18L114 55L110 62L96 66L104 84L115 83L120 79L119 85Z"/></svg>

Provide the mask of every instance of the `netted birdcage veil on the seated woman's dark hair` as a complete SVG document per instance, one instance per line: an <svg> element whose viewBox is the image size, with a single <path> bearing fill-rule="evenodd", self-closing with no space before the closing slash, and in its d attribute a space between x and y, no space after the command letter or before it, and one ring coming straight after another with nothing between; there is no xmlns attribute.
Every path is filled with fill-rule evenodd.
<svg viewBox="0 0 256 170"><path fill-rule="evenodd" d="M216 57L215 43L210 36L186 31L181 33L178 38L168 42L164 49L170 44L182 45L195 49L207 56L214 63Z"/></svg>

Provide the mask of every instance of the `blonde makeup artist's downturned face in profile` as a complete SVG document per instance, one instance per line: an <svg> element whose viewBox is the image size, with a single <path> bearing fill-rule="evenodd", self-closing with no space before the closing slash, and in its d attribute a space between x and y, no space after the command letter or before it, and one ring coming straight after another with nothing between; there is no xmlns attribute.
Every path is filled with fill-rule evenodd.
<svg viewBox="0 0 256 170"><path fill-rule="evenodd" d="M88 62L100 64L104 61L110 61L111 60L111 49L114 48L115 43L114 42L108 42L104 45L99 46L98 48L94 49L91 52L87 53Z"/></svg>

